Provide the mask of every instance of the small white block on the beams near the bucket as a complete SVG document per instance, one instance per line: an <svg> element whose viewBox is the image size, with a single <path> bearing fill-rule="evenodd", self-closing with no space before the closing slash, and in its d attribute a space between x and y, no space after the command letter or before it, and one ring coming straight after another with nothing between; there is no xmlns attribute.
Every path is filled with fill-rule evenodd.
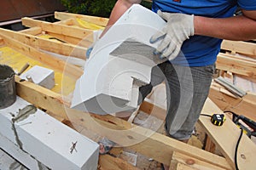
<svg viewBox="0 0 256 170"><path fill-rule="evenodd" d="M55 72L42 66L35 65L20 75L20 78L25 80L27 80L27 77L31 77L32 82L44 88L51 89L55 86Z"/></svg>

